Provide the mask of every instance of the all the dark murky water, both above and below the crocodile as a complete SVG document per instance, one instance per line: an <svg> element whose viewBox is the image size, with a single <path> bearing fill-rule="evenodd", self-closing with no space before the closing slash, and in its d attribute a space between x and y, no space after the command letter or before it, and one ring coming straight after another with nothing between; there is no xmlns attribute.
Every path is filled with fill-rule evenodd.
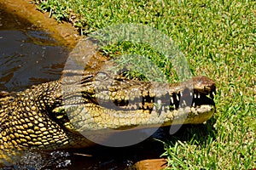
<svg viewBox="0 0 256 170"><path fill-rule="evenodd" d="M68 52L48 32L5 11L0 3L0 91L20 91L58 79ZM160 134L155 136L159 138ZM151 138L124 148L96 145L49 153L27 150L20 162L5 169L133 169L137 161L158 158L162 148Z"/></svg>

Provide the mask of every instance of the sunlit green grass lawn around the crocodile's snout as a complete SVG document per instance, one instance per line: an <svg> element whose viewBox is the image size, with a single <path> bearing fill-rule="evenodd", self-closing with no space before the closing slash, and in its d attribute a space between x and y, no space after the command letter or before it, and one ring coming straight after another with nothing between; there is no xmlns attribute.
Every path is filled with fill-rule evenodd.
<svg viewBox="0 0 256 170"><path fill-rule="evenodd" d="M217 82L217 112L207 125L184 127L164 145L170 169L252 169L256 167L256 2L251 1L87 1L37 0L56 20L69 20L87 35L118 23L142 23L169 37L194 75ZM161 54L129 42L105 48L150 55L175 77ZM149 51L149 52L148 52ZM149 53L149 54L148 54ZM172 78L170 78L172 80Z"/></svg>

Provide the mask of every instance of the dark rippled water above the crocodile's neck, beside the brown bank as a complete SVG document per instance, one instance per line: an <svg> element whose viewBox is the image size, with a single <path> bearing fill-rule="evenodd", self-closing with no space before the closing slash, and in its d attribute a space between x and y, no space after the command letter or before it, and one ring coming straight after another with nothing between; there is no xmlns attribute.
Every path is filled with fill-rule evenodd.
<svg viewBox="0 0 256 170"><path fill-rule="evenodd" d="M20 91L58 79L67 48L35 26L0 10L0 89Z"/></svg>

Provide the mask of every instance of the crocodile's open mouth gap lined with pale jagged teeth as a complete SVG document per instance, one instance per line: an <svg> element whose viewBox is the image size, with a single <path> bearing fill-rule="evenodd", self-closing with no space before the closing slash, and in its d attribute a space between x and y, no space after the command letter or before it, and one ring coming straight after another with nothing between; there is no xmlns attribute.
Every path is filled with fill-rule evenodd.
<svg viewBox="0 0 256 170"><path fill-rule="evenodd" d="M165 94L160 98L142 94L139 97L126 96L123 99L110 99L110 97L106 99L105 97L103 99L94 95L90 96L90 102L116 111L173 111L187 106L196 108L200 105L215 105L213 101L215 94L215 87L205 91L196 89L189 90L189 88L185 88L181 92ZM86 97L88 99L89 96Z"/></svg>

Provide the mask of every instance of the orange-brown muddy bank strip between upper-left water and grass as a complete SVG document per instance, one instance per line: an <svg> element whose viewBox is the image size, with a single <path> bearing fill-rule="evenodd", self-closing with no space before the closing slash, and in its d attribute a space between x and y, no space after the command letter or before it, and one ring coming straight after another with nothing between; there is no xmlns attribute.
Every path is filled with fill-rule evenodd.
<svg viewBox="0 0 256 170"><path fill-rule="evenodd" d="M43 31L48 31L51 37L67 48L73 48L79 41L80 36L70 23L58 23L55 19L49 18L49 14L36 10L36 5L32 1L0 0L0 3L7 12L27 20Z"/></svg>

